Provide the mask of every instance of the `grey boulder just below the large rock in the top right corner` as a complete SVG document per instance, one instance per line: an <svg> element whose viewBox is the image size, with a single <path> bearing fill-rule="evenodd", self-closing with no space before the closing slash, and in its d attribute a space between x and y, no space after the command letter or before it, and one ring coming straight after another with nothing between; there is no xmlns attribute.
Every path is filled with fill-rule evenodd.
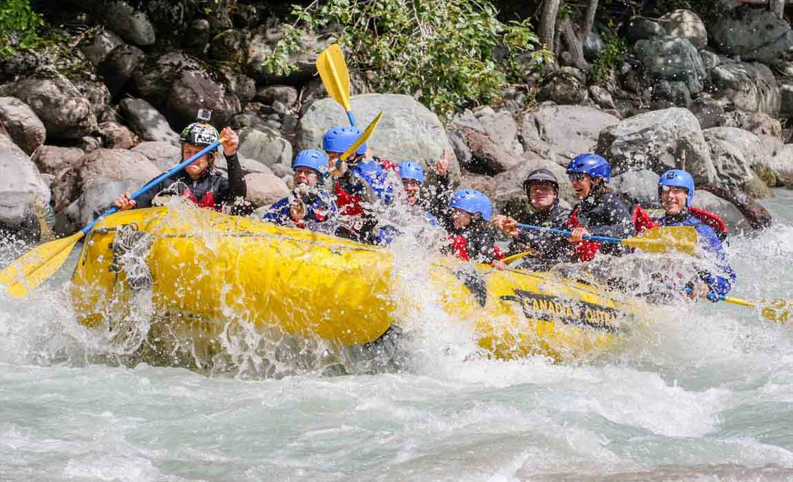
<svg viewBox="0 0 793 482"><path fill-rule="evenodd" d="M780 88L771 69L762 63L722 62L711 71L713 97L727 107L764 112L776 116L780 112Z"/></svg>

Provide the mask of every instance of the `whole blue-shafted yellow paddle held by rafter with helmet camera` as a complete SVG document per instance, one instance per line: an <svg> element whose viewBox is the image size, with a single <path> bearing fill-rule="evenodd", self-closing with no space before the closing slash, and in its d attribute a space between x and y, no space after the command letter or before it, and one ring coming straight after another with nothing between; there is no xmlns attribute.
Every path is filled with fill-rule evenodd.
<svg viewBox="0 0 793 482"><path fill-rule="evenodd" d="M206 146L198 154L195 154L190 159L180 162L178 165L170 168L166 173L163 173L156 179L149 181L148 184L146 184L143 188L140 188L135 192L135 194L132 195L132 199L136 199L138 196L144 194L144 192L147 192L149 189L153 188L156 184L159 184L160 181L173 176L182 169L185 169L187 165L193 161L196 161L196 159L201 158L201 156L204 154L217 149L217 146L220 146L220 143L224 142L224 140L225 139L221 138L220 141L213 142L213 144ZM58 268L60 268L63 265L63 262L66 261L67 256L69 256L71 249L77 244L77 241L80 241L80 239L82 239L82 237L85 236L86 233L88 233L94 227L94 225L99 222L100 219L105 218L116 211L118 211L117 207L111 207L109 210L102 213L102 215L94 219L94 221L90 222L88 226L82 228L82 230L79 230L77 233L74 233L69 237L63 237L61 239L56 239L55 241L44 243L43 245L38 245L16 260L13 260L11 264L0 271L0 285L5 287L6 293L10 294L14 298L24 298L29 294L30 290L39 286L44 282L44 280L48 279L50 276L54 275L56 271L58 271Z"/></svg>

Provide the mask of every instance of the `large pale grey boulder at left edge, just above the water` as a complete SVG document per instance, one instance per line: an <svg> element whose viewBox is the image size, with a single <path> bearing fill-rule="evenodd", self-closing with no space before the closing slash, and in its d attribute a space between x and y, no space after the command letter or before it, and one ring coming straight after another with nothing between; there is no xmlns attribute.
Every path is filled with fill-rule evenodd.
<svg viewBox="0 0 793 482"><path fill-rule="evenodd" d="M49 205L49 188L33 161L5 136L0 136L0 172L0 228L36 237L36 205Z"/></svg>

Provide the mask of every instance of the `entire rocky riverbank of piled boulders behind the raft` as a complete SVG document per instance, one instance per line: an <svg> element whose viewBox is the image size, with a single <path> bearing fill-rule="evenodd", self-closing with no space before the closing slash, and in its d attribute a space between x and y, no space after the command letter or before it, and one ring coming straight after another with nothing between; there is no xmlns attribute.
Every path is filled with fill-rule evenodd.
<svg viewBox="0 0 793 482"><path fill-rule="evenodd" d="M0 61L0 226L35 237L44 209L57 232L74 232L174 165L177 131L198 108L239 129L257 207L287 194L293 154L347 123L313 64L333 35L303 32L289 59L297 70L278 76L262 65L285 33L262 25L261 6L202 15L185 3L67 2L57 14L67 36ZM734 230L761 229L771 218L753 199L793 183L793 31L765 6L728 0L704 20L688 10L630 18L619 28L628 55L603 82L549 66L447 123L414 97L382 93L370 70L351 71L352 107L363 125L385 111L374 154L431 168L454 150L455 179L501 210L523 209L531 169L562 176L594 151L633 202L653 207L658 175L682 166L702 188L696 205ZM603 48L596 33L587 45L589 59ZM573 201L569 189L562 197Z"/></svg>

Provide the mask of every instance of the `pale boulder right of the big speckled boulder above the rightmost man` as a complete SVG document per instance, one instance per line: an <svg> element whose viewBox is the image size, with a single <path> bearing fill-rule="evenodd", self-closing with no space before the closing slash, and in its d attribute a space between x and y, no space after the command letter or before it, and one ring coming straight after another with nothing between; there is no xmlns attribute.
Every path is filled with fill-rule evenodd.
<svg viewBox="0 0 793 482"><path fill-rule="evenodd" d="M755 198L771 197L768 187L752 170L752 165L760 164L765 154L757 135L737 127L712 127L703 135L711 148L718 187L741 190Z"/></svg>

